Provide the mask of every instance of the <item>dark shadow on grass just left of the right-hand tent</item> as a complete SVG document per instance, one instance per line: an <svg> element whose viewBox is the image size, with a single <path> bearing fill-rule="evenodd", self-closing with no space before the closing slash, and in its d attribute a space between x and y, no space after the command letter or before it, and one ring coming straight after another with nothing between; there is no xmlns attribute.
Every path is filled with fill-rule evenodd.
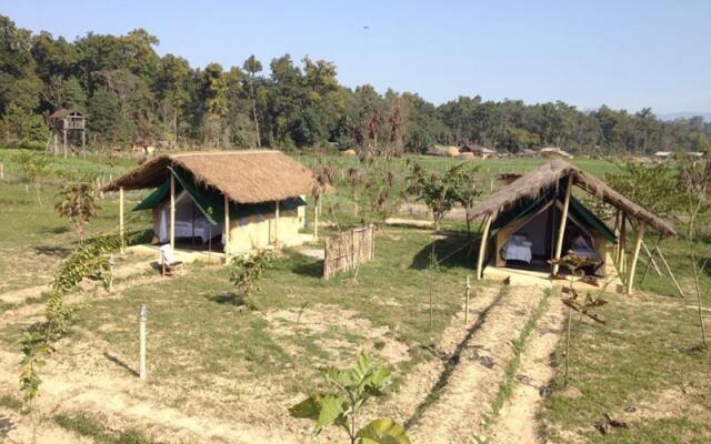
<svg viewBox="0 0 711 444"><path fill-rule="evenodd" d="M434 255L440 266L447 269L471 269L475 263L478 248L479 241L475 239L469 245L465 233L463 235L451 233L443 239L434 241ZM431 254L432 243L429 243L412 258L410 269L427 270L430 266Z"/></svg>

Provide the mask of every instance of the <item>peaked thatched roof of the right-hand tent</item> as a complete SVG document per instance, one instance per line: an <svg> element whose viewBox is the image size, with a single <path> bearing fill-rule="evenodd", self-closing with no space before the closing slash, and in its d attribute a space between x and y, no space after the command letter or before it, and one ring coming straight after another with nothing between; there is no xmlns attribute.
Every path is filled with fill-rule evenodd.
<svg viewBox="0 0 711 444"><path fill-rule="evenodd" d="M495 218L519 202L533 200L551 188L558 186L559 181L561 185L564 184L562 179L567 180L569 175L573 176L575 185L605 203L620 209L629 218L642 221L662 234L677 235L677 230L671 223L630 201L594 175L588 174L559 159L547 162L538 170L523 174L501 188L488 199L474 205L471 215L475 218L483 214L492 214Z"/></svg>

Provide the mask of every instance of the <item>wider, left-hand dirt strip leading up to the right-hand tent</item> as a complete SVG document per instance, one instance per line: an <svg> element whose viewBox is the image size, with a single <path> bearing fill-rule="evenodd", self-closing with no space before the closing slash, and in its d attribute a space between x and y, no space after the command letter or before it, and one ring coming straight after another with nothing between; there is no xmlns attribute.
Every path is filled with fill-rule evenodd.
<svg viewBox="0 0 711 444"><path fill-rule="evenodd" d="M412 442L474 443L513 356L511 342L538 306L538 289L510 287L480 313L458 346L447 381L407 422Z"/></svg>

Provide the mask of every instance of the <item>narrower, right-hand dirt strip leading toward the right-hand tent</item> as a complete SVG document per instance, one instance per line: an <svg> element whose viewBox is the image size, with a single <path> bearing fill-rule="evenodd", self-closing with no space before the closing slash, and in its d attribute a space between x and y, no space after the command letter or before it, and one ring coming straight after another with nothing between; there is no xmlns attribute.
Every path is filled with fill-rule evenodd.
<svg viewBox="0 0 711 444"><path fill-rule="evenodd" d="M548 383L554 375L550 356L564 325L563 304L549 299L550 307L539 321L521 356L511 397L505 402L489 437L501 444L538 444L537 412Z"/></svg>

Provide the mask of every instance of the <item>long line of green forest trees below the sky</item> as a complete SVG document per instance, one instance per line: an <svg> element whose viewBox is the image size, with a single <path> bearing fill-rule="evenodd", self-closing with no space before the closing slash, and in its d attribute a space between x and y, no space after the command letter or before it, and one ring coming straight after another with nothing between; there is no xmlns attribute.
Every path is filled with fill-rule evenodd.
<svg viewBox="0 0 711 444"><path fill-rule="evenodd" d="M96 147L303 149L332 145L370 154L423 152L432 144L479 143L517 152L557 145L578 153L708 151L711 123L664 122L651 109L581 111L561 101L525 104L460 97L434 105L417 93L337 80L324 60L289 54L269 69L254 56L229 69L192 68L160 57L143 29L90 32L73 41L18 28L0 16L0 138L44 144L61 108L88 118Z"/></svg>

